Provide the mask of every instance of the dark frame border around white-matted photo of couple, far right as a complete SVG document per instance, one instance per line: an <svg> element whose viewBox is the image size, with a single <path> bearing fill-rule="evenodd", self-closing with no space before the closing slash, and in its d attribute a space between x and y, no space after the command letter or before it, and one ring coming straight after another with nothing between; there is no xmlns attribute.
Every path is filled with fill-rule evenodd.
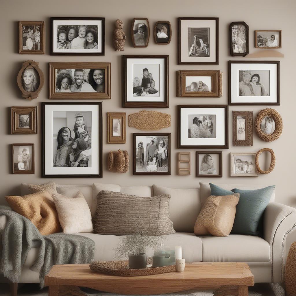
<svg viewBox="0 0 296 296"><path fill-rule="evenodd" d="M232 64L276 64L276 102L242 102L231 101L231 65ZM243 96L242 96L243 98ZM260 105L280 105L280 61L228 61L228 104L232 106L260 106Z"/></svg>

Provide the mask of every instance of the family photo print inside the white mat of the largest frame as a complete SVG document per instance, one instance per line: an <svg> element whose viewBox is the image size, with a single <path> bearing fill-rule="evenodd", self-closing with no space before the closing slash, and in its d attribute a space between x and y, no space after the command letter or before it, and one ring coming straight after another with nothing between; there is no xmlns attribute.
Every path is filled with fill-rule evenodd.
<svg viewBox="0 0 296 296"><path fill-rule="evenodd" d="M91 166L91 111L53 112L53 167Z"/></svg>

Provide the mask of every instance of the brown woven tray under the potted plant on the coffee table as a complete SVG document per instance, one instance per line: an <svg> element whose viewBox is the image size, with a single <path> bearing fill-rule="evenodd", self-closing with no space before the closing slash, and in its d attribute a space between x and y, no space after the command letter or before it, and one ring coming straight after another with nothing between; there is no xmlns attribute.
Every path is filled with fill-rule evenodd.
<svg viewBox="0 0 296 296"><path fill-rule="evenodd" d="M149 264L148 258L147 262ZM148 267L139 269L129 269L128 260L122 261L96 261L89 264L92 271L101 274L110 274L112 276L148 276L151 274L165 274L167 272L176 271L176 265L162 266L162 267Z"/></svg>

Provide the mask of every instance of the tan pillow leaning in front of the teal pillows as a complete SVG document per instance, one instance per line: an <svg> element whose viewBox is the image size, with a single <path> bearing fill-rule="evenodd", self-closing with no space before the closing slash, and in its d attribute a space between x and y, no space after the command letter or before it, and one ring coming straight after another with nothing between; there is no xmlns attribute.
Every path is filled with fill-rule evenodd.
<svg viewBox="0 0 296 296"><path fill-rule="evenodd" d="M194 225L195 235L227 237L233 226L239 193L211 195L205 201Z"/></svg>

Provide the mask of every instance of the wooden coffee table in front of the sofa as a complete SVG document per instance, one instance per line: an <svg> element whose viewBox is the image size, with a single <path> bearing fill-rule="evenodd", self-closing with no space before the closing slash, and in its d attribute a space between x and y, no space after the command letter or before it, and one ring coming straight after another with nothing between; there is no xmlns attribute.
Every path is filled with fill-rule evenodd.
<svg viewBox="0 0 296 296"><path fill-rule="evenodd" d="M217 289L214 295L247 296L254 286L249 266L242 262L186 263L185 271L149 276L111 276L90 270L88 264L54 265L45 277L49 296L85 295L78 287L126 295L149 295L190 289Z"/></svg>

